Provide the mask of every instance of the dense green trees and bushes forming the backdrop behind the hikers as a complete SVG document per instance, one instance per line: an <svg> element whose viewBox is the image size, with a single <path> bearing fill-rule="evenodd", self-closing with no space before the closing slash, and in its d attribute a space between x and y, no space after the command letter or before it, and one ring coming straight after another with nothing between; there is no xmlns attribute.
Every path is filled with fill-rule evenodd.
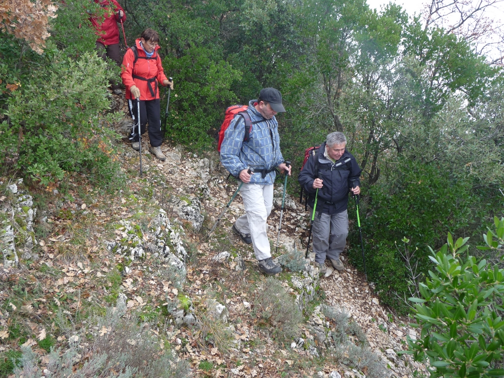
<svg viewBox="0 0 504 378"><path fill-rule="evenodd" d="M118 69L94 52L89 14L98 7L89 0L11 3L0 5L0 164L33 186L55 187L77 171L113 192L121 172L107 126L122 114L109 111L107 92ZM147 27L160 34L163 67L175 84L169 141L214 149L224 109L257 98L263 87L282 92L282 151L296 168L305 148L330 132L346 134L363 169L367 277L385 304L412 313L409 297L424 298L418 308L431 299L425 287L432 283L423 283L435 281L427 273L435 270L431 250L442 248L448 232L469 237L467 254L478 261L500 262L502 246L488 227L502 240L504 73L495 51L504 44L489 42L488 33L503 32L481 17L503 2L475 8L433 0L418 18L395 4L376 12L364 0L120 3L129 45ZM295 179L289 192L299 192ZM483 234L487 248L477 249ZM351 237L358 247L349 256L362 269L358 233ZM450 274L467 264L457 260L461 243L445 245L458 267ZM481 305L488 296L478 298ZM502 304L493 304L485 311L493 308L497 319ZM504 332L495 332L501 358Z"/></svg>

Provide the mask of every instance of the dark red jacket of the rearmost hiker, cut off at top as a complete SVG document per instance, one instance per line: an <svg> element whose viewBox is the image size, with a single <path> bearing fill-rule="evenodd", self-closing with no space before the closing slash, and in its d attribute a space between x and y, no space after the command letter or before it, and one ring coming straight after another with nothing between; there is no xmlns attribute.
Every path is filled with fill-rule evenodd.
<svg viewBox="0 0 504 378"><path fill-rule="evenodd" d="M101 8L104 8L105 14L103 17L91 17L91 23L96 29L96 35L98 35L98 42L103 43L105 46L118 44L119 43L119 28L117 23L121 21L119 11L122 11L124 15L122 16L122 22L126 21L126 13L116 2L116 0L94 0L96 4L99 4Z"/></svg>

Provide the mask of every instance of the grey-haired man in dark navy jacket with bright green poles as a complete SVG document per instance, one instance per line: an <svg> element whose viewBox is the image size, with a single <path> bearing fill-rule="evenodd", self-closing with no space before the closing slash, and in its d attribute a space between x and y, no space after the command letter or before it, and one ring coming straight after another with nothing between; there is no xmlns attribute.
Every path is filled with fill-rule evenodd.
<svg viewBox="0 0 504 378"><path fill-rule="evenodd" d="M319 190L312 235L315 262L322 273L326 273L326 257L335 269L345 269L340 254L348 235L348 194L360 194L361 169L345 146L343 133L329 134L326 142L308 158L298 177L309 194L311 209Z"/></svg>

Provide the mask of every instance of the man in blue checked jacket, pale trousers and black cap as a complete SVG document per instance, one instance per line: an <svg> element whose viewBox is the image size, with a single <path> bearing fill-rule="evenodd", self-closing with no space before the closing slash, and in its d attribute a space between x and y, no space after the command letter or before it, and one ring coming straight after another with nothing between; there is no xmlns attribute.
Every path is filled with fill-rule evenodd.
<svg viewBox="0 0 504 378"><path fill-rule="evenodd" d="M233 232L243 242L253 244L259 270L267 275L282 271L271 259L266 222L273 207L275 168L290 175L290 166L280 152L275 118L275 114L284 111L282 94L274 88L262 89L259 98L248 103L247 113L252 122L248 140L243 140L243 116L237 114L224 133L220 152L222 165L243 182L240 194L245 214L233 224ZM253 173L249 174L248 169Z"/></svg>

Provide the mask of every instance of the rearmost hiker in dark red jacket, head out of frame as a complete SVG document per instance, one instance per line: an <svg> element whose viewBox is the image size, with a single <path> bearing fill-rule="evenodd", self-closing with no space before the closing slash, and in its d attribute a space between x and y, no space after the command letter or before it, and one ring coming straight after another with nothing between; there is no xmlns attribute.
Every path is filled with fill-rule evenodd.
<svg viewBox="0 0 504 378"><path fill-rule="evenodd" d="M126 21L126 14L116 0L94 0L94 2L99 4L104 11L102 17L93 16L90 18L91 23L96 29L96 35L98 35L96 51L103 59L106 59L108 56L116 62L117 66L120 66L122 59L119 49L119 27L117 23ZM112 82L111 88L114 94L122 94L117 83Z"/></svg>

